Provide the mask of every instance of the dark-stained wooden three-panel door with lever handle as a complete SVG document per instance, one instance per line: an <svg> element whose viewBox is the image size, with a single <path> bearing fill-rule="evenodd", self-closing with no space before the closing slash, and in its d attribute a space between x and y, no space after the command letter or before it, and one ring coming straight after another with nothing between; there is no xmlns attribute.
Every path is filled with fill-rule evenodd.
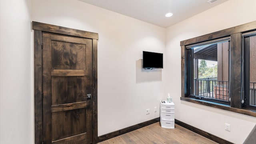
<svg viewBox="0 0 256 144"><path fill-rule="evenodd" d="M92 143L92 39L43 33L43 142Z"/></svg>

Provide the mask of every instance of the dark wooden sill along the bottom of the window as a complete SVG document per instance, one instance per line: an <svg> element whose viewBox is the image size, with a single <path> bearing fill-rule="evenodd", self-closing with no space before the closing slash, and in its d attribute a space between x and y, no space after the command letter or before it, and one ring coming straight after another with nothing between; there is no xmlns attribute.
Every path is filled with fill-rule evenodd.
<svg viewBox="0 0 256 144"><path fill-rule="evenodd" d="M243 108L243 109L232 108L228 104L219 104L219 103L216 103L216 102L209 102L209 101L206 101L206 100L198 100L198 99L189 98L189 97L187 97L187 98L180 97L180 100L184 100L184 101L187 101L187 102L193 102L195 104L202 104L204 106L210 106L210 107L213 107L213 108L219 108L219 109L222 109L222 110L228 110L230 112L236 112L236 113L239 113L239 114L246 114L248 116L256 117L256 110L251 110L251 109L246 109L246 108Z"/></svg>

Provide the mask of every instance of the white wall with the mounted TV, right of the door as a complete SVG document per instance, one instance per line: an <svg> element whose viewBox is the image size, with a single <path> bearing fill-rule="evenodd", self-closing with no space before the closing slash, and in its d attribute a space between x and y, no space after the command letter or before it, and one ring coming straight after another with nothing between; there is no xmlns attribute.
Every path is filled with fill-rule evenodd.
<svg viewBox="0 0 256 144"><path fill-rule="evenodd" d="M142 51L165 55L166 29L78 0L33 0L32 20L99 34L98 135L159 117L162 70L142 70ZM146 115L146 109L151 113Z"/></svg>

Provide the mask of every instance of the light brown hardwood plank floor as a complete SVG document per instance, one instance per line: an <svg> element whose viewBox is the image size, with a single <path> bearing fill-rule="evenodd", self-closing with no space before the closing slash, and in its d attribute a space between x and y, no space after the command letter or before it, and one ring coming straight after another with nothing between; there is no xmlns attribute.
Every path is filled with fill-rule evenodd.
<svg viewBox="0 0 256 144"><path fill-rule="evenodd" d="M218 144L175 124L174 129L162 128L160 122L122 134L98 144Z"/></svg>

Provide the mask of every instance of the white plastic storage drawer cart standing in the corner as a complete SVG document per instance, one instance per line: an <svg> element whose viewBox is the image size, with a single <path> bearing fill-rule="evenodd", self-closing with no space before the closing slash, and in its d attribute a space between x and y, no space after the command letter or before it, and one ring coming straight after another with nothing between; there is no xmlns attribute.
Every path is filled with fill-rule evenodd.
<svg viewBox="0 0 256 144"><path fill-rule="evenodd" d="M162 128L174 128L174 103L160 101L160 123Z"/></svg>

